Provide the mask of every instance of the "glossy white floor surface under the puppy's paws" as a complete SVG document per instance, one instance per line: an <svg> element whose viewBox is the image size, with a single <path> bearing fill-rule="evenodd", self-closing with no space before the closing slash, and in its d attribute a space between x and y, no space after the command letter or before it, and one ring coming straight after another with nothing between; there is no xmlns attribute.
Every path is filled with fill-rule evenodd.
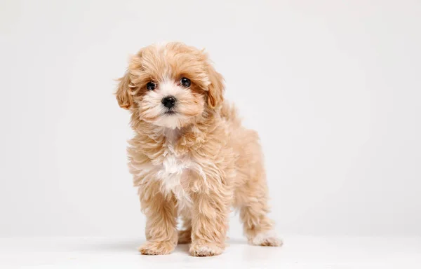
<svg viewBox="0 0 421 269"><path fill-rule="evenodd" d="M0 239L0 268L421 268L421 238L284 237L280 248L229 240L224 254L142 256L142 240Z"/></svg>

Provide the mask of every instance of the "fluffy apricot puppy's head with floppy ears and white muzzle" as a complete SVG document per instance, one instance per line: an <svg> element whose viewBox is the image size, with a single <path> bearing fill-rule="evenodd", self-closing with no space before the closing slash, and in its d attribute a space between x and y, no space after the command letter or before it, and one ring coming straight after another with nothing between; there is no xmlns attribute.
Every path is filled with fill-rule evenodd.
<svg viewBox="0 0 421 269"><path fill-rule="evenodd" d="M203 50L183 43L142 48L120 78L116 98L141 120L169 128L194 123L223 101L223 78Z"/></svg>

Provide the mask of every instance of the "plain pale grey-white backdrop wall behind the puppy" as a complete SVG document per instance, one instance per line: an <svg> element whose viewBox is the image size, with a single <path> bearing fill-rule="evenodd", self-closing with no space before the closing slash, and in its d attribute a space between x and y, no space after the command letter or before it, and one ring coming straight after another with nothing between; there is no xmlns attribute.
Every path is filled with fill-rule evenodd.
<svg viewBox="0 0 421 269"><path fill-rule="evenodd" d="M143 236L112 93L158 41L206 48L225 76L279 233L421 235L420 1L0 5L0 236Z"/></svg>

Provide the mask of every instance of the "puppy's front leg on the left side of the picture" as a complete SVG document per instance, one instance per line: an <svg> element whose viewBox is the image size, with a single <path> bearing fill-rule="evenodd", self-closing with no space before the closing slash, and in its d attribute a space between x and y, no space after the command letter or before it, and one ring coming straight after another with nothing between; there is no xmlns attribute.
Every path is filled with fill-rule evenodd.
<svg viewBox="0 0 421 269"><path fill-rule="evenodd" d="M175 198L155 191L153 186L148 187L139 189L140 204L147 217L147 242L139 251L145 255L170 254L178 240Z"/></svg>

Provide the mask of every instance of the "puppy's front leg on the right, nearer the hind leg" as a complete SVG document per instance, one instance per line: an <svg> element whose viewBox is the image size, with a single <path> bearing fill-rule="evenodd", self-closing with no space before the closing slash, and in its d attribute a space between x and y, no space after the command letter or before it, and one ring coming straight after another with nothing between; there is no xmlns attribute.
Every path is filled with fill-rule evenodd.
<svg viewBox="0 0 421 269"><path fill-rule="evenodd" d="M228 229L229 192L218 184L193 193L192 244L193 256L222 254Z"/></svg>

